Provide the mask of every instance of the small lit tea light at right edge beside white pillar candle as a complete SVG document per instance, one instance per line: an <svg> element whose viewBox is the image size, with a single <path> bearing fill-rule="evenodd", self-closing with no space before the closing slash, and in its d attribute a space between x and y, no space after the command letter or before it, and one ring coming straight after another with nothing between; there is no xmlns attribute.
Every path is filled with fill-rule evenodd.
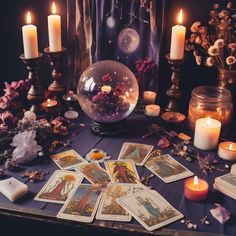
<svg viewBox="0 0 236 236"><path fill-rule="evenodd" d="M220 143L218 148L218 155L220 158L227 161L236 160L236 143L223 142Z"/></svg>

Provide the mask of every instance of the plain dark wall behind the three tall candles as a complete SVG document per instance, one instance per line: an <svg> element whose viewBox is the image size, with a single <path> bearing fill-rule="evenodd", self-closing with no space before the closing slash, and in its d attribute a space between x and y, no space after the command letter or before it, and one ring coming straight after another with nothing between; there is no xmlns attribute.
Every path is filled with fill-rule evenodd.
<svg viewBox="0 0 236 236"><path fill-rule="evenodd" d="M73 0L69 0L73 1ZM158 1L158 0L157 0ZM62 16L63 45L66 46L66 0L57 0L59 13ZM164 58L170 48L171 26L176 24L176 14L180 8L184 11L184 25L200 20L207 23L209 11L215 0L166 0L165 31L161 48L161 63L159 75L159 94L161 103L165 102L165 91L170 85L170 69ZM227 0L218 1L226 4ZM234 0L233 2L236 1ZM38 26L39 49L42 52L48 46L47 15L50 13L49 0L8 0L1 3L1 79L0 92L4 81L23 79L26 76L25 67L19 60L23 52L21 27L24 25L25 13L31 10L33 22ZM197 85L215 84L216 71L214 69L196 66L194 58L189 56L183 68L182 89L188 101L191 90ZM47 86L50 82L50 66L47 58L41 67L42 83Z"/></svg>

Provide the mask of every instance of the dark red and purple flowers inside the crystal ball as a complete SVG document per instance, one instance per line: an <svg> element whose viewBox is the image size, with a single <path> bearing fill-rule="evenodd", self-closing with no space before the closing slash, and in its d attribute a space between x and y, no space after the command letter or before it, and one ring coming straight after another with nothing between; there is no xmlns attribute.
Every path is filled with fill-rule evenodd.
<svg viewBox="0 0 236 236"><path fill-rule="evenodd" d="M97 114L104 115L113 114L116 112L127 111L129 109L129 103L125 99L125 87L122 82L117 83L115 88L109 86L109 82L112 80L109 74L102 77L103 85L101 91L92 97L93 106ZM109 90L103 91L102 87L107 86Z"/></svg>

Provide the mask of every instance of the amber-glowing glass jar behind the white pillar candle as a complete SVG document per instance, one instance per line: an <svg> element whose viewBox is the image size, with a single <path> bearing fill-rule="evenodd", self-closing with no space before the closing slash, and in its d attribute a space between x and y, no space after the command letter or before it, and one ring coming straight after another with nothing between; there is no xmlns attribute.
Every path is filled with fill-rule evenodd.
<svg viewBox="0 0 236 236"><path fill-rule="evenodd" d="M216 86L200 86L192 91L188 110L190 129L195 129L196 120L208 116L221 122L222 134L229 131L233 116L230 91Z"/></svg>

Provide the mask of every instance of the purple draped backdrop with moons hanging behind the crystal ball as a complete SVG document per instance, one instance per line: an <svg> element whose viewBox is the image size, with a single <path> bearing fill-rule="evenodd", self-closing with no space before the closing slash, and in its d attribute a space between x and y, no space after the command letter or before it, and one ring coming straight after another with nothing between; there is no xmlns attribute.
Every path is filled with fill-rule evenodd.
<svg viewBox="0 0 236 236"><path fill-rule="evenodd" d="M69 83L100 60L159 64L165 0L68 0ZM92 58L92 60L91 60Z"/></svg>

